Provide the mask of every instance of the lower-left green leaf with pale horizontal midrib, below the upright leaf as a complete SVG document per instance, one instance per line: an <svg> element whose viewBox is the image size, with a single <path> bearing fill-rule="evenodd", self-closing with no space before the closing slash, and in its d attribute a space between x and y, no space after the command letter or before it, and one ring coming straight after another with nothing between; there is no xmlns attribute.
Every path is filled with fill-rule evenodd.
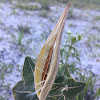
<svg viewBox="0 0 100 100"><path fill-rule="evenodd" d="M12 91L15 100L38 100L37 95L34 94L33 86L26 87L24 81L19 81Z"/></svg>

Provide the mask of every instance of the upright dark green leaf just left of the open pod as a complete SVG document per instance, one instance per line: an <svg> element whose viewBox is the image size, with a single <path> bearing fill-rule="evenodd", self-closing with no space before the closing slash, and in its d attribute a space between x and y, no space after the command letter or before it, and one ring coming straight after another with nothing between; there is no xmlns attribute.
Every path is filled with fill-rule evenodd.
<svg viewBox="0 0 100 100"><path fill-rule="evenodd" d="M34 83L34 69L35 69L35 60L26 57L23 66L23 80L25 86L32 85Z"/></svg>

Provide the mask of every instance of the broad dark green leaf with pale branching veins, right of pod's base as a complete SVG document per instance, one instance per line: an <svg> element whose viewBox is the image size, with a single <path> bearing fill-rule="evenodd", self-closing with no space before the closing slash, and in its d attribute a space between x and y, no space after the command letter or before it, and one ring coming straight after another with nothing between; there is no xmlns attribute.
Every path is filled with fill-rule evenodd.
<svg viewBox="0 0 100 100"><path fill-rule="evenodd" d="M61 96L67 100L72 100L77 94L83 91L85 85L86 83L84 82L78 82L66 76L59 76L56 78L47 100L58 100ZM68 86L68 90L65 88L66 86Z"/></svg>

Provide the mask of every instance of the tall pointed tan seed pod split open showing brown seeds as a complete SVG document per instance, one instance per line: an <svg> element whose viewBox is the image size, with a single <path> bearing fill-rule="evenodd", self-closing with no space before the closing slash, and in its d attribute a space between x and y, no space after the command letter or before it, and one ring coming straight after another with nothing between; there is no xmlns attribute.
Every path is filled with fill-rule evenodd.
<svg viewBox="0 0 100 100"><path fill-rule="evenodd" d="M39 100L45 100L56 77L60 61L60 42L64 29L68 3L56 27L47 38L36 61L34 81Z"/></svg>

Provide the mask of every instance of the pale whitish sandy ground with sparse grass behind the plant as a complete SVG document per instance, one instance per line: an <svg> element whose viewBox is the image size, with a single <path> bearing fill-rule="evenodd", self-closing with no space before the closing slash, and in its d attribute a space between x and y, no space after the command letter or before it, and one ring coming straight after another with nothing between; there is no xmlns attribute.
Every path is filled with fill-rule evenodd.
<svg viewBox="0 0 100 100"><path fill-rule="evenodd" d="M0 73L2 66L8 66L4 79L0 78L0 95L5 100L13 100L11 89L21 80L25 56L37 57L45 42L42 39L48 37L65 7L53 6L47 17L42 17L39 10L21 10L15 6L16 2L0 3ZM62 41L66 40L68 30L74 36L82 35L83 39L76 46L80 52L81 67L100 76L100 46L96 46L100 45L100 20L96 20L97 16L100 16L99 11L73 8L72 17L66 20ZM29 30L24 33L21 45L18 45L21 25L26 25ZM100 86L100 82L97 85Z"/></svg>

